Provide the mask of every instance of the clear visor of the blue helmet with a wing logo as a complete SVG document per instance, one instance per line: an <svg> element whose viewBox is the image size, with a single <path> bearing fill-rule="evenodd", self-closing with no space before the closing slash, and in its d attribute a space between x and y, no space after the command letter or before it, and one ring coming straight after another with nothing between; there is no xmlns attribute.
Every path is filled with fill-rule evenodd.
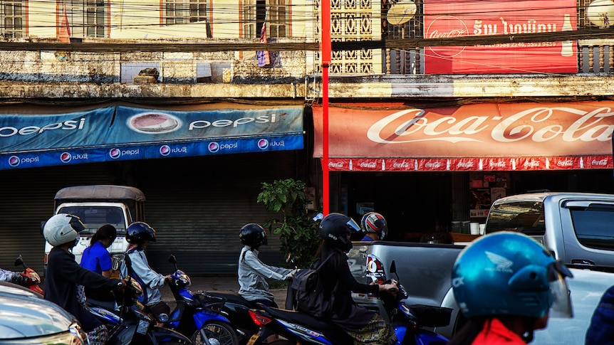
<svg viewBox="0 0 614 345"><path fill-rule="evenodd" d="M573 275L560 261L554 262L550 267L548 277L550 292L552 293L550 317L569 319L573 317L573 309L571 307L571 293L565 278L573 277Z"/></svg>

